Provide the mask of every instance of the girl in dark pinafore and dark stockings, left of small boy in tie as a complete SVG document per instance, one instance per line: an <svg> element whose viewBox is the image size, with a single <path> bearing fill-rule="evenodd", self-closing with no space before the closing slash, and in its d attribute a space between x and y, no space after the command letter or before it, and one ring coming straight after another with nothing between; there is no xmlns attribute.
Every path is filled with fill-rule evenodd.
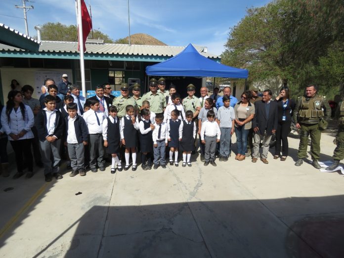
<svg viewBox="0 0 344 258"><path fill-rule="evenodd" d="M152 131L155 126L150 121L150 112L148 109L144 108L140 111L142 120L138 124L140 129L140 146L141 146L141 160L142 160L142 170L152 169L152 147L153 147L153 137ZM147 161L146 161L147 160Z"/></svg>

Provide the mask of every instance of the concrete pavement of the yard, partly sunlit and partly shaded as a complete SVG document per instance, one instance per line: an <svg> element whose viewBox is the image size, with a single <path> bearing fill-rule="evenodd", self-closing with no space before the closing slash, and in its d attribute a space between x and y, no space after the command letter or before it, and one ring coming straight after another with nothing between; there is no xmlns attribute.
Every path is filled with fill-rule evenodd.
<svg viewBox="0 0 344 258"><path fill-rule="evenodd" d="M333 138L322 135L322 161ZM299 141L289 144L291 157L269 153L268 165L232 155L51 183L43 171L1 177L0 257L341 257L344 176L295 167Z"/></svg>

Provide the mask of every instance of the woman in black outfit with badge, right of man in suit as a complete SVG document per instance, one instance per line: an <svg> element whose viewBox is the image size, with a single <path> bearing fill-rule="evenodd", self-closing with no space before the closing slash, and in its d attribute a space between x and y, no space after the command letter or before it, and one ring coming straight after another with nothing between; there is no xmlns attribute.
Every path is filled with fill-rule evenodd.
<svg viewBox="0 0 344 258"><path fill-rule="evenodd" d="M275 155L273 158L277 160L280 157L282 144L281 161L285 161L288 156L288 133L290 132L295 102L293 99L290 99L288 87L281 88L279 95L275 98L275 101L277 102L278 108L278 124L276 130Z"/></svg>

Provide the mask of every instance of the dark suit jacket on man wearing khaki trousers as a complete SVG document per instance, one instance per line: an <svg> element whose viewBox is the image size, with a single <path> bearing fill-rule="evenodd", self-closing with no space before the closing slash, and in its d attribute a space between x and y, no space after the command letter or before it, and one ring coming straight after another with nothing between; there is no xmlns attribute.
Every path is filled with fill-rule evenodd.
<svg viewBox="0 0 344 258"><path fill-rule="evenodd" d="M272 130L277 129L278 122L278 112L277 112L277 102L270 101L269 117L266 117L265 112L265 102L262 100L255 102L256 114L252 120L252 128L258 127L258 133L263 135L265 128L266 134L271 135Z"/></svg>

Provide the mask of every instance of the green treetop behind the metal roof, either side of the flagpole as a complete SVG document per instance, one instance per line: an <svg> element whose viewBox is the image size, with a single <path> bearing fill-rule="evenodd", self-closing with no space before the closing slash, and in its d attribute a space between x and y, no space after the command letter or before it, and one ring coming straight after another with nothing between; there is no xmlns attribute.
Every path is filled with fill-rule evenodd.
<svg viewBox="0 0 344 258"><path fill-rule="evenodd" d="M41 26L41 38L43 41L78 41L78 27L76 25L64 25L48 22ZM91 33L88 35L90 38ZM104 40L104 43L114 43L110 37L98 30L93 30L93 38Z"/></svg>

